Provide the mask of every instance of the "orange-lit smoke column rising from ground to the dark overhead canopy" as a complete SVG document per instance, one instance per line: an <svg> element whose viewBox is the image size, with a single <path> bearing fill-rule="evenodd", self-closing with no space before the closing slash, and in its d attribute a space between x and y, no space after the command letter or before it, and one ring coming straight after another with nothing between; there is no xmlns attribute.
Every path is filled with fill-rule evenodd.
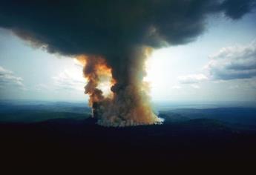
<svg viewBox="0 0 256 175"><path fill-rule="evenodd" d="M85 58L85 77L89 80L85 93L90 96L89 105L93 117L99 125L123 127L131 125L160 124L151 110L148 97L148 86L142 79L145 76L145 59L151 53L149 47L134 47L123 52L119 62L106 62L110 59L88 56ZM81 57L79 58L81 60ZM114 80L112 96L103 96L98 85L100 79L107 74L111 67Z"/></svg>

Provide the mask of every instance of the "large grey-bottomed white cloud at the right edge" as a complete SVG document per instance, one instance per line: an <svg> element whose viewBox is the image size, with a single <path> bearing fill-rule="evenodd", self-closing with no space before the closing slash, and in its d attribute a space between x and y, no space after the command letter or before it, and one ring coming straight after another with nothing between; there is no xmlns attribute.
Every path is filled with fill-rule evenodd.
<svg viewBox="0 0 256 175"><path fill-rule="evenodd" d="M211 79L250 79L256 76L256 42L223 47L209 58L211 60L205 68Z"/></svg>

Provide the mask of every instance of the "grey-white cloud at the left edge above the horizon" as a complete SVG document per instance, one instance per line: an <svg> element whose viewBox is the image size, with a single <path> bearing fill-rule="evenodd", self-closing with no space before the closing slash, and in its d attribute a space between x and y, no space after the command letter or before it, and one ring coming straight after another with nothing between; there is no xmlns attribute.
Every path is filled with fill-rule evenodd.
<svg viewBox="0 0 256 175"><path fill-rule="evenodd" d="M4 69L0 66L0 87L16 86L24 89L23 79L19 76L15 76L10 70Z"/></svg>

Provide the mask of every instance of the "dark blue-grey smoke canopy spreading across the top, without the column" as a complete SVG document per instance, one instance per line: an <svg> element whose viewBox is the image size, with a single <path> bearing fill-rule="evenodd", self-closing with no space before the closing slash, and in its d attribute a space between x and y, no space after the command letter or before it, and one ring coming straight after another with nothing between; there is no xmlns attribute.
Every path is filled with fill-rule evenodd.
<svg viewBox="0 0 256 175"><path fill-rule="evenodd" d="M0 26L50 53L118 55L134 45L193 41L206 16L240 19L254 0L1 1ZM112 57L114 58L114 57Z"/></svg>

